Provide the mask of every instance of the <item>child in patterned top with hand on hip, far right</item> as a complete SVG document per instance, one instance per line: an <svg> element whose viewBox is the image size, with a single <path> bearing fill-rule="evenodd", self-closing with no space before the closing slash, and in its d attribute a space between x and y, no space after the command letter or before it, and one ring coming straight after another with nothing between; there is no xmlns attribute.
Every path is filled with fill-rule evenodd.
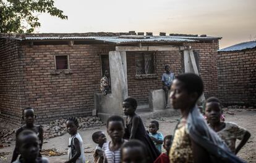
<svg viewBox="0 0 256 163"><path fill-rule="evenodd" d="M211 127L225 141L226 145L235 154L245 145L250 138L250 133L232 122L221 122L221 102L218 98L211 97L205 101L205 116ZM241 140L236 147L236 140Z"/></svg>

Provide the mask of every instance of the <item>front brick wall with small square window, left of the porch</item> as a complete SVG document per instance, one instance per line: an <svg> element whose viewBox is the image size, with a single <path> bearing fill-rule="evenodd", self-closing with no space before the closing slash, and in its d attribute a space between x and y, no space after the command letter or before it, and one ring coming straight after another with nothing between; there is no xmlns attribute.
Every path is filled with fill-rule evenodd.
<svg viewBox="0 0 256 163"><path fill-rule="evenodd" d="M35 108L40 123L59 117L91 116L94 93L100 92L100 55L110 46L26 46L20 98ZM107 52L108 53L108 52ZM55 70L54 55L69 55L70 70Z"/></svg>

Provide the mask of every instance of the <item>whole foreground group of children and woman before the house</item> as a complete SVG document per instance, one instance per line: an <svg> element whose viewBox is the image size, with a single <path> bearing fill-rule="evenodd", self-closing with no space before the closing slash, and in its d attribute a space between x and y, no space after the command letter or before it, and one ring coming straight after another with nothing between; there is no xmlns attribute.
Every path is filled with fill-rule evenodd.
<svg viewBox="0 0 256 163"><path fill-rule="evenodd" d="M142 119L135 113L137 101L127 98L122 105L126 123L121 116L111 116L106 122L110 140L107 141L101 131L92 135L92 140L98 144L93 154L95 163L244 162L236 154L250 138L250 133L234 123L221 121L223 111L218 98L205 101L205 121L196 105L202 92L202 79L195 74L181 74L174 79L169 98L173 108L181 110L182 117L174 135L164 138L158 132L157 121L151 121L149 130L145 129ZM26 124L17 130L12 162L48 162L40 155L43 129L33 124L33 109L26 108L23 118ZM85 163L77 118L67 119L66 126L71 136L66 162ZM241 142L236 147L237 139Z"/></svg>

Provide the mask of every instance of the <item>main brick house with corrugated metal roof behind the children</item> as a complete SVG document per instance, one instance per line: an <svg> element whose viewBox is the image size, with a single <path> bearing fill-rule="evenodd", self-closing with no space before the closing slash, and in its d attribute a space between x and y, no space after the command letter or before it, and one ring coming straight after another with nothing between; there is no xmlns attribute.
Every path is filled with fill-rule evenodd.
<svg viewBox="0 0 256 163"><path fill-rule="evenodd" d="M148 36L149 35L149 36ZM110 52L124 52L127 93L148 103L148 92L161 89L164 65L184 73L184 50L194 52L205 97L217 96L218 37L206 35L151 36L147 33L0 34L1 118L22 121L22 109L35 108L38 122L59 117L91 116L94 93ZM112 68L111 83L113 79ZM113 82L112 82L113 81Z"/></svg>

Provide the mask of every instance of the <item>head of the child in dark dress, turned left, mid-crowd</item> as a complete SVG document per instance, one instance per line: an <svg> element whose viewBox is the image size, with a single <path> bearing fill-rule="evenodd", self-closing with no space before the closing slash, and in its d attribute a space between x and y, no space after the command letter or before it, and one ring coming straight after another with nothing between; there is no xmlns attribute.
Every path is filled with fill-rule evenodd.
<svg viewBox="0 0 256 163"><path fill-rule="evenodd" d="M135 113L135 110L137 108L137 101L134 98L126 98L122 102L122 109L124 111L124 115L130 116Z"/></svg>

